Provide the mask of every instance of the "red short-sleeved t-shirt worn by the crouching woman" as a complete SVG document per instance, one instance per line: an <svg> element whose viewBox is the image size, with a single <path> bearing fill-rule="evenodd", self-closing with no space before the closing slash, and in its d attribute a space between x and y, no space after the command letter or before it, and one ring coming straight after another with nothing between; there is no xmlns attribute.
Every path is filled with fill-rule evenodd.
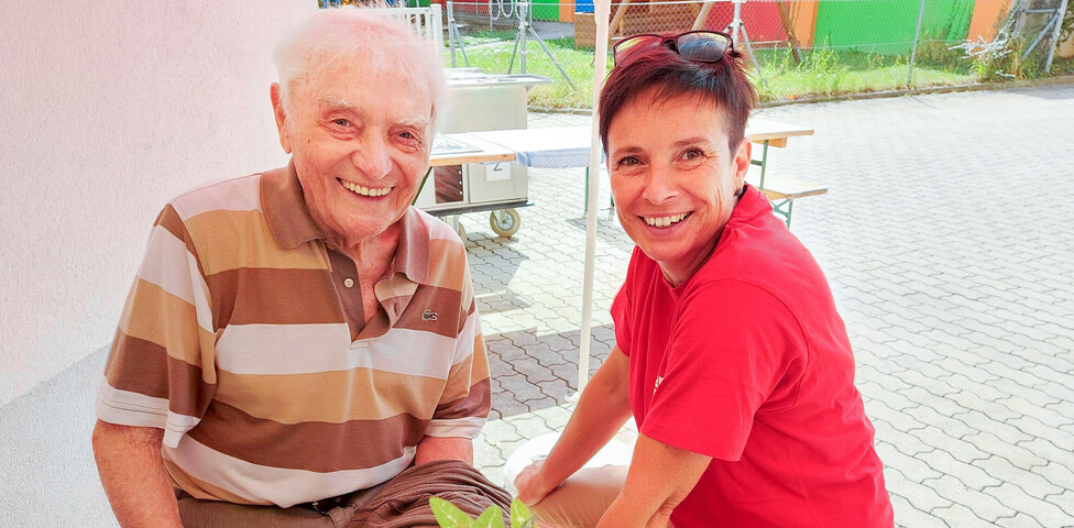
<svg viewBox="0 0 1074 528"><path fill-rule="evenodd" d="M635 249L612 316L642 433L713 459L677 528L894 526L828 280L759 191L676 288Z"/></svg>

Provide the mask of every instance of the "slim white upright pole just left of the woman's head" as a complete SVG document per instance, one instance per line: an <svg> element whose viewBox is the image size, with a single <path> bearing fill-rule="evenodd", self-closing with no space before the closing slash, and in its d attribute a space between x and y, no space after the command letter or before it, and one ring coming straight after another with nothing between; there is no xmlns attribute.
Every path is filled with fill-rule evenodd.
<svg viewBox="0 0 1074 528"><path fill-rule="evenodd" d="M612 14L612 0L594 0L593 18L596 21L596 55L593 61L593 139L589 148L589 204L585 207L585 275L582 284L582 346L578 352L578 394L582 394L589 381L590 341L593 333L593 261L596 260L596 198L601 189L601 146L599 103L607 69L607 20Z"/></svg>

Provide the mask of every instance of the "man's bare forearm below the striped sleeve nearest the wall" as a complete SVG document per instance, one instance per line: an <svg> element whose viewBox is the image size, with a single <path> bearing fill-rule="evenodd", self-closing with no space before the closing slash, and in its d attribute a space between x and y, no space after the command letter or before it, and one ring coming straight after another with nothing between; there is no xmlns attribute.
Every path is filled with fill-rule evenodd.
<svg viewBox="0 0 1074 528"><path fill-rule="evenodd" d="M120 526L183 527L161 455L163 438L161 429L97 420L94 458Z"/></svg>

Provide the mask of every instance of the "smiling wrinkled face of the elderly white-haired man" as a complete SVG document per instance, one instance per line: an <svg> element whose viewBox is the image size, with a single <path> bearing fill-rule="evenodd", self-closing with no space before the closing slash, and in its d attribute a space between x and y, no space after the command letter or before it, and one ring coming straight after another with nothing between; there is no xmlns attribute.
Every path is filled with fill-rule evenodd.
<svg viewBox="0 0 1074 528"><path fill-rule="evenodd" d="M391 68L314 59L309 72L292 87L289 108L273 89L280 140L314 221L351 246L393 226L417 193L432 145L432 97Z"/></svg>

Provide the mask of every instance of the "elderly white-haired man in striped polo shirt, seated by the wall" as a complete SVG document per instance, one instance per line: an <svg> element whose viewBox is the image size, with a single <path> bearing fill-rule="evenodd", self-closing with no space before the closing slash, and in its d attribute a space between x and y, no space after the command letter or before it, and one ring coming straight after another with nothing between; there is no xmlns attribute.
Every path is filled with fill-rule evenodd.
<svg viewBox="0 0 1074 528"><path fill-rule="evenodd" d="M410 207L437 55L373 10L328 10L276 65L291 164L172 200L128 298L94 432L117 518L379 526L406 497L430 524L439 492L505 506L469 465L490 388L465 252Z"/></svg>

